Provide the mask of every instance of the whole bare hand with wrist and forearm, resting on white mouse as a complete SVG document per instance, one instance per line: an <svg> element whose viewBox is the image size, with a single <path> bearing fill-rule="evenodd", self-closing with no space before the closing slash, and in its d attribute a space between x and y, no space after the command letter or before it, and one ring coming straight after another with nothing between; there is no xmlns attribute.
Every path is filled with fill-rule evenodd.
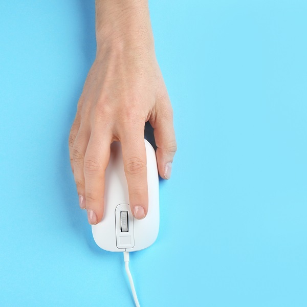
<svg viewBox="0 0 307 307"><path fill-rule="evenodd" d="M96 0L96 59L69 137L70 160L89 223L103 216L104 175L113 141L122 144L131 211L148 211L144 125L157 144L158 171L169 179L177 150L172 107L156 59L147 0Z"/></svg>

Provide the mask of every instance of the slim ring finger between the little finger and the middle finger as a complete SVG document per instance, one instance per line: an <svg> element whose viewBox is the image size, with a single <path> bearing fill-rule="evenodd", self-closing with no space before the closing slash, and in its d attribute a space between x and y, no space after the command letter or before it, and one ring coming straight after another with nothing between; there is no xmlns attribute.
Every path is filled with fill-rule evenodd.
<svg viewBox="0 0 307 307"><path fill-rule="evenodd" d="M91 131L89 127L85 128L81 124L78 134L75 138L72 150L74 178L77 186L77 192L79 195L79 206L81 209L86 208L85 178L84 178L83 168L84 168L84 156L87 144L89 143L90 135Z"/></svg>

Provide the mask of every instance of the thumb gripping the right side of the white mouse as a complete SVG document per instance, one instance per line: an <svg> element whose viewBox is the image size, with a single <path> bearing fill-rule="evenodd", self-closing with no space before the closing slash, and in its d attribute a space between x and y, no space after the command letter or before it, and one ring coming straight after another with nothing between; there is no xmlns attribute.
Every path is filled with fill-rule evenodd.
<svg viewBox="0 0 307 307"><path fill-rule="evenodd" d="M170 101L158 104L156 114L149 120L157 145L158 171L162 178L170 179L171 167L177 150Z"/></svg>

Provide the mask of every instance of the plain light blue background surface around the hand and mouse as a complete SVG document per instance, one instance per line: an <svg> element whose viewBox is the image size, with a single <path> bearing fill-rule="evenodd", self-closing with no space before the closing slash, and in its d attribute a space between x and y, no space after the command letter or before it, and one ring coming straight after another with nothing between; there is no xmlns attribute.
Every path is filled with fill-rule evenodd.
<svg viewBox="0 0 307 307"><path fill-rule="evenodd" d="M307 3L150 1L178 153L142 306L307 305ZM0 4L0 305L133 306L79 209L68 135L94 1Z"/></svg>

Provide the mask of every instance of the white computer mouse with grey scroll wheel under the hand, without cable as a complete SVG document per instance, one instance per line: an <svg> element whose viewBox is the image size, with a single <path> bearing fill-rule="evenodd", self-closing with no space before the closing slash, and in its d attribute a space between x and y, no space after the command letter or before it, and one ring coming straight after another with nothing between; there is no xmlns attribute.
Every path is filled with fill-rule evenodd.
<svg viewBox="0 0 307 307"><path fill-rule="evenodd" d="M111 145L105 171L104 214L92 226L96 244L106 251L139 251L155 242L159 232L159 177L155 149L146 141L148 213L137 220L129 206L128 185L120 142Z"/></svg>

